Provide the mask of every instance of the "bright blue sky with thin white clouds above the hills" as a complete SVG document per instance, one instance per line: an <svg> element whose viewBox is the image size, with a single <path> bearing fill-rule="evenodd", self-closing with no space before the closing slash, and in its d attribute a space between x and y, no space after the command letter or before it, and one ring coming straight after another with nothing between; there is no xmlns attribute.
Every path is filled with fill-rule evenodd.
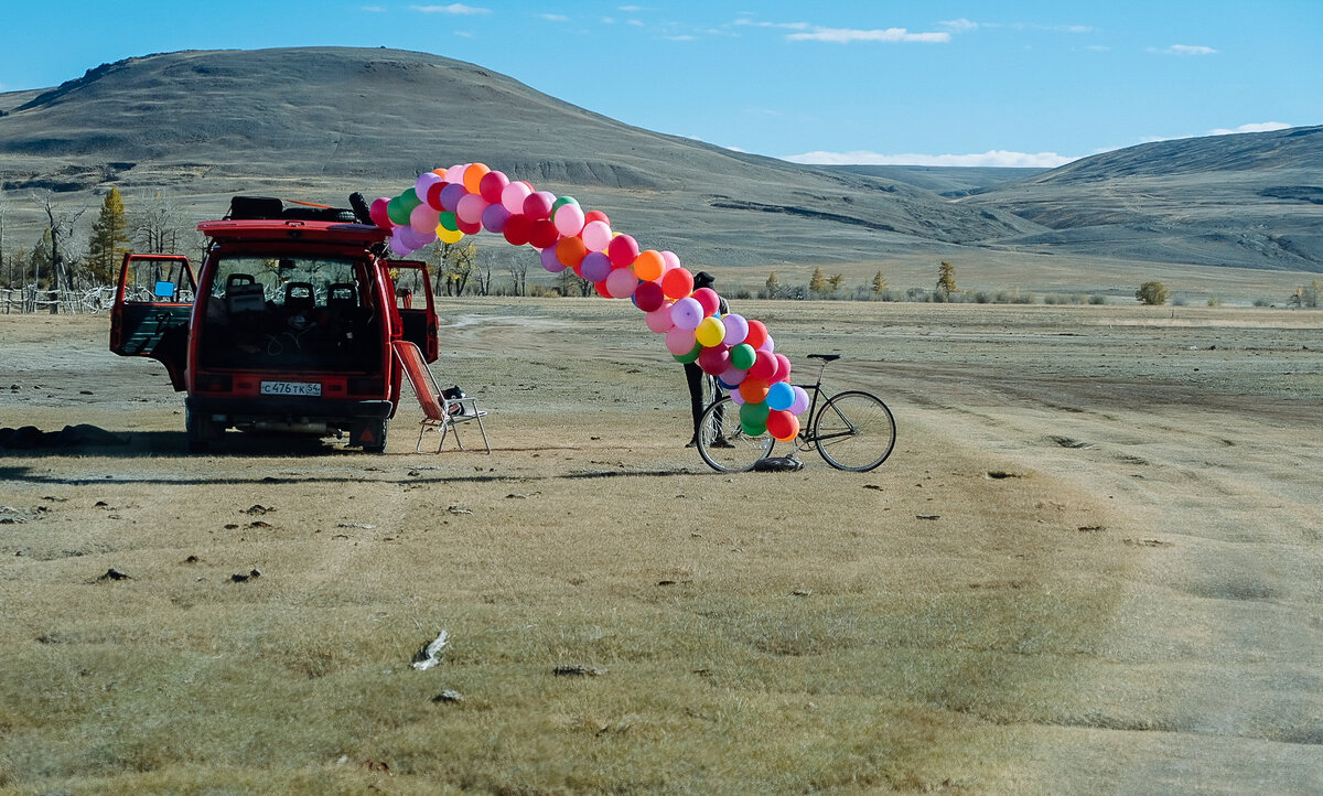
<svg viewBox="0 0 1323 796"><path fill-rule="evenodd" d="M130 56L389 46L803 163L1057 165L1323 123L1323 0L7 0L0 91Z"/></svg>

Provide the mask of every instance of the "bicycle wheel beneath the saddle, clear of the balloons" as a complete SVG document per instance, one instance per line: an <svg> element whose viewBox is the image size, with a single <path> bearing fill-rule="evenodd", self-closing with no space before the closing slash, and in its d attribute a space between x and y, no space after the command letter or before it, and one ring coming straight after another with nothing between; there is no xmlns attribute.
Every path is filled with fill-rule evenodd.
<svg viewBox="0 0 1323 796"><path fill-rule="evenodd" d="M814 444L836 469L867 472L892 455L896 418L872 393L837 393L814 420Z"/></svg>

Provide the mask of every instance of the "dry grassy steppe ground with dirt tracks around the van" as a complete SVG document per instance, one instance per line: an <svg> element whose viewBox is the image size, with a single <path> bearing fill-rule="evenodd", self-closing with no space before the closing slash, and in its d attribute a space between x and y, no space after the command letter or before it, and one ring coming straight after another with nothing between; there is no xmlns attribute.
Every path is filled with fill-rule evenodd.
<svg viewBox="0 0 1323 796"><path fill-rule="evenodd" d="M128 439L0 451L0 791L1323 791L1323 313L741 303L901 442L728 476L631 307L441 309L491 456L189 456L0 316L0 426Z"/></svg>

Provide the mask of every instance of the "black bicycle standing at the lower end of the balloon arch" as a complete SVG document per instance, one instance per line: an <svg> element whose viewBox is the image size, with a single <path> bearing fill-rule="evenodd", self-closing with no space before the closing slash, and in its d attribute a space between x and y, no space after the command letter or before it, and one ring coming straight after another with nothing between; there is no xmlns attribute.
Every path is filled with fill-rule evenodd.
<svg viewBox="0 0 1323 796"><path fill-rule="evenodd" d="M796 451L818 448L823 460L836 469L868 472L878 467L896 448L896 417L881 398L864 390L845 390L827 398L822 407L823 373L840 354L808 354L822 360L818 381L798 385L811 394L807 420L799 427ZM750 435L740 423L740 407L729 395L713 401L699 422L699 454L718 472L753 469L771 455L777 443L767 432Z"/></svg>

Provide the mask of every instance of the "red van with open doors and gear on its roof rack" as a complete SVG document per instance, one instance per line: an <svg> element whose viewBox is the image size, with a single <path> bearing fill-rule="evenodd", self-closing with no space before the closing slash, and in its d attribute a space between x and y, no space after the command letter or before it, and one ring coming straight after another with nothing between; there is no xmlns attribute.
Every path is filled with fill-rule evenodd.
<svg viewBox="0 0 1323 796"><path fill-rule="evenodd" d="M388 231L353 210L234 197L204 221L201 270L187 257L130 254L110 350L165 365L184 401L188 446L226 428L348 435L380 452L400 402L393 340L437 360L427 264L392 260Z"/></svg>

